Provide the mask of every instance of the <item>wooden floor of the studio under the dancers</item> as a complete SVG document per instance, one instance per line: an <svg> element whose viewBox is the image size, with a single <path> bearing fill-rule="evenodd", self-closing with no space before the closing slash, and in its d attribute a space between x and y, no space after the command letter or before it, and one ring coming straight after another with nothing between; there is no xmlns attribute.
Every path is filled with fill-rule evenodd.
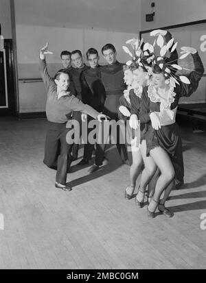
<svg viewBox="0 0 206 283"><path fill-rule="evenodd" d="M46 126L0 121L0 269L205 269L205 132L181 128L185 187L166 203L172 219L148 219L124 199L129 167L115 147L97 173L73 167L71 192L55 188L42 162Z"/></svg>

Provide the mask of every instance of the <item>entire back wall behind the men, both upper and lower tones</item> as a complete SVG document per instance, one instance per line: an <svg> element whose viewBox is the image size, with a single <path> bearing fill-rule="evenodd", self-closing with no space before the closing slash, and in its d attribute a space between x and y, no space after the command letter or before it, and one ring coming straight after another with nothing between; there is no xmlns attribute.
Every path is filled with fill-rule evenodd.
<svg viewBox="0 0 206 283"><path fill-rule="evenodd" d="M38 50L49 42L51 75L62 66L60 51L89 47L100 51L107 42L117 59L128 60L122 45L139 34L140 2L130 0L14 0L19 76L19 112L45 111L45 88L38 78ZM100 64L105 64L100 56ZM24 81L22 79L25 79ZM35 82L29 79L36 79Z"/></svg>

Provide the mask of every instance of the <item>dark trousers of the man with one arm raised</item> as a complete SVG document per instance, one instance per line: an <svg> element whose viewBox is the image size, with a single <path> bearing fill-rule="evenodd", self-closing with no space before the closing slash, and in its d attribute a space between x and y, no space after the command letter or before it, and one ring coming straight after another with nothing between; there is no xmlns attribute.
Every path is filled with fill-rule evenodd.
<svg viewBox="0 0 206 283"><path fill-rule="evenodd" d="M47 167L56 169L56 182L65 185L67 182L67 170L70 164L70 149L72 145L67 143L66 136L70 129L66 129L66 123L49 122L45 140L45 158L43 162Z"/></svg>

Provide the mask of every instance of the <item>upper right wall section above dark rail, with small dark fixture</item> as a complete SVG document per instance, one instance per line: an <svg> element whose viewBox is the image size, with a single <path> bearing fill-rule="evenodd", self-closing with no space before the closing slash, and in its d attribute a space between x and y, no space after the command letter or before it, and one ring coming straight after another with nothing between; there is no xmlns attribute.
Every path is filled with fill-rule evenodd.
<svg viewBox="0 0 206 283"><path fill-rule="evenodd" d="M156 29L206 19L205 0L156 0L153 22L146 22L151 0L141 0L141 30Z"/></svg>

